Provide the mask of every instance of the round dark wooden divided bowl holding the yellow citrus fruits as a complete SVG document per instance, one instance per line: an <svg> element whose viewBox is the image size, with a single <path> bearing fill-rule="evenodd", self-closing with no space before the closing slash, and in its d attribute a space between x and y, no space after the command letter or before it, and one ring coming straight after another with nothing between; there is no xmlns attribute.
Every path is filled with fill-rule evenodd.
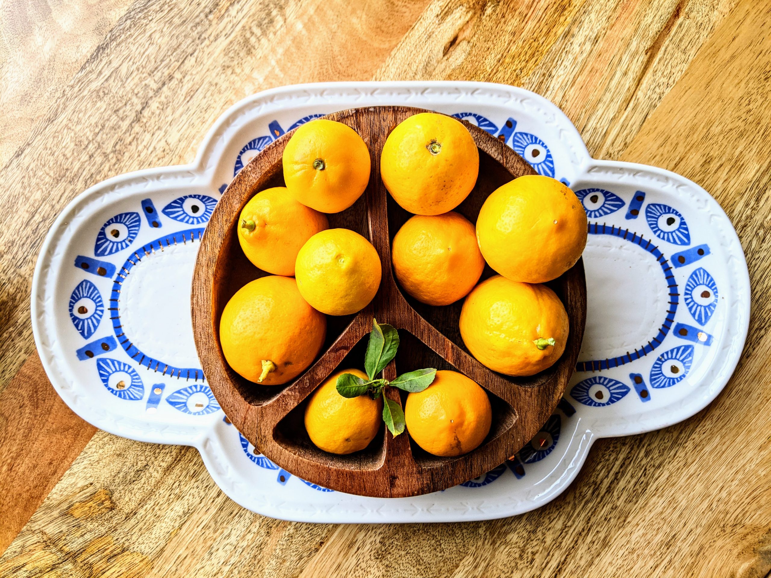
<svg viewBox="0 0 771 578"><path fill-rule="evenodd" d="M200 244L193 279L193 327L198 356L209 385L231 422L256 448L295 476L326 488L362 496L418 496L476 478L514 455L554 411L570 379L581 348L586 315L586 285L581 260L550 287L570 318L570 337L555 365L538 375L510 378L484 367L466 350L458 320L463 301L430 307L402 292L391 268L391 241L411 215L399 207L380 180L380 153L392 129L416 113L406 106L350 109L326 118L352 126L369 146L372 172L362 197L349 209L328 215L330 227L345 227L367 237L380 255L378 293L358 314L328 316L327 339L313 365L295 381L264 386L237 375L222 355L219 324L222 310L244 284L266 275L247 260L237 240L241 209L255 193L284 185L281 153L292 133L281 136L241 170L217 203ZM503 183L534 170L505 143L465 123L480 150L476 187L455 210L476 222L482 203ZM493 271L486 267L483 278ZM381 424L379 435L361 452L333 455L313 445L305 432L306 398L336 369L362 368L372 318L399 329L396 359L386 379L418 368L454 369L487 389L493 425L487 439L466 455L439 458L411 442L408 432L396 438ZM403 403L405 395L386 388Z"/></svg>

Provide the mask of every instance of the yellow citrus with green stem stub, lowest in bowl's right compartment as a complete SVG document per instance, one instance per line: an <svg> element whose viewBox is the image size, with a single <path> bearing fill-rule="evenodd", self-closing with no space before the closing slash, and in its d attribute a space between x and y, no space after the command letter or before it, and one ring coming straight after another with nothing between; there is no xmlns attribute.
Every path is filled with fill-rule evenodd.
<svg viewBox="0 0 771 578"><path fill-rule="evenodd" d="M506 375L534 375L560 358L567 312L546 285L496 275L474 287L460 311L460 336L476 359Z"/></svg>

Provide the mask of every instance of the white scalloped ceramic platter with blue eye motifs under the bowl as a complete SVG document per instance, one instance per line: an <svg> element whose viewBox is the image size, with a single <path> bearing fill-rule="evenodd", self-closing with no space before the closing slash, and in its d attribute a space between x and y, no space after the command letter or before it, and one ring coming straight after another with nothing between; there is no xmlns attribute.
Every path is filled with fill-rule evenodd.
<svg viewBox="0 0 771 578"><path fill-rule="evenodd" d="M563 402L515 459L416 498L332 492L255 455L224 421L190 328L199 236L234 173L298 123L374 105L478 124L569 184L589 223L586 334ZM117 176L73 200L45 239L32 287L45 371L78 415L127 438L194 445L236 502L307 522L452 522L542 506L571 483L594 439L663 428L711 402L748 322L742 247L709 193L666 170L594 160L546 99L475 82L288 86L244 99L189 166Z"/></svg>

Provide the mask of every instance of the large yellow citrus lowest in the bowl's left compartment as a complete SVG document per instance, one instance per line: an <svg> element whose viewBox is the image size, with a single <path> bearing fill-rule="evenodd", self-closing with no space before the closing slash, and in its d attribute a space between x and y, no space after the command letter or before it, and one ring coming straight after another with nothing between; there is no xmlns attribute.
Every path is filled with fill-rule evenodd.
<svg viewBox="0 0 771 578"><path fill-rule="evenodd" d="M308 305L291 277L260 277L241 287L220 318L222 353L233 370L263 385L281 385L311 365L327 319Z"/></svg>

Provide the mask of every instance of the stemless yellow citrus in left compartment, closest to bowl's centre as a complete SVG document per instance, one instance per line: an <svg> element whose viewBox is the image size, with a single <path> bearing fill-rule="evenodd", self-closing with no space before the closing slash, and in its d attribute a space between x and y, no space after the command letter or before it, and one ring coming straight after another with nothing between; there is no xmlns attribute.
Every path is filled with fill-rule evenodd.
<svg viewBox="0 0 771 578"><path fill-rule="evenodd" d="M328 229L302 246L295 264L300 293L328 315L363 309L380 286L380 257L375 247L349 229Z"/></svg>

